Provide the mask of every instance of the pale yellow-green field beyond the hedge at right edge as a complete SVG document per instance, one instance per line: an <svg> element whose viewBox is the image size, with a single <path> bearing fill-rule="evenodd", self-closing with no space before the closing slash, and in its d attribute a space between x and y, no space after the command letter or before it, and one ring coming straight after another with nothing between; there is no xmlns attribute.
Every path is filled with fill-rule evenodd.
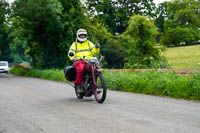
<svg viewBox="0 0 200 133"><path fill-rule="evenodd" d="M200 45L167 48L164 54L172 68L200 68Z"/></svg>

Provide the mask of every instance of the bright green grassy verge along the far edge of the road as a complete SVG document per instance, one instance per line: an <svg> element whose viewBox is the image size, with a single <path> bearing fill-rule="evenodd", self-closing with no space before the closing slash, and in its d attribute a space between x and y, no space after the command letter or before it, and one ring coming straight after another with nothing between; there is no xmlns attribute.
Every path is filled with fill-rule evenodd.
<svg viewBox="0 0 200 133"><path fill-rule="evenodd" d="M16 75L67 82L62 70L25 70L14 68ZM159 72L104 71L107 87L111 90L169 96L200 101L200 74L188 77Z"/></svg>

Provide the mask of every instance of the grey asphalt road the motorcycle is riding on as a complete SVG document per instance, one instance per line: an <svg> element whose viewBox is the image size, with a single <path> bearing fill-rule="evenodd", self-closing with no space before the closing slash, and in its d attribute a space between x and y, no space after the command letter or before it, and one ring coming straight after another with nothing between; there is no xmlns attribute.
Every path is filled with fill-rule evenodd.
<svg viewBox="0 0 200 133"><path fill-rule="evenodd" d="M98 104L65 83L0 74L0 133L200 133L200 103L108 91Z"/></svg>

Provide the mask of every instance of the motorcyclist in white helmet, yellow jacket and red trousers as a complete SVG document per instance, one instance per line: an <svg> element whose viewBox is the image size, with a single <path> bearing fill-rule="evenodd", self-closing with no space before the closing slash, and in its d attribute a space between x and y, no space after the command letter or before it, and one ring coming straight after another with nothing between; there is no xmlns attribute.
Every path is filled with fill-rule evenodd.
<svg viewBox="0 0 200 133"><path fill-rule="evenodd" d="M68 52L69 59L74 62L74 66L76 68L75 87L80 93L83 92L81 84L83 82L83 74L85 71L85 62L80 59L90 59L100 52L99 43L94 45L87 38L87 30L79 29L77 31L76 42L71 45Z"/></svg>

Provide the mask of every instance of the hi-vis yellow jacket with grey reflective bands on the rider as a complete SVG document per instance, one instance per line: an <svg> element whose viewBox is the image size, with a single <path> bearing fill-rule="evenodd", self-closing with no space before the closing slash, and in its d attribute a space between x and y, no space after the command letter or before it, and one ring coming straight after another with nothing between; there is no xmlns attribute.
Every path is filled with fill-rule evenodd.
<svg viewBox="0 0 200 133"><path fill-rule="evenodd" d="M70 56L69 53L74 53L74 56ZM99 54L100 48L95 48L95 45L90 41L83 43L74 42L68 52L69 59L72 60L74 57L80 59L85 56L85 59L90 59L93 56Z"/></svg>

